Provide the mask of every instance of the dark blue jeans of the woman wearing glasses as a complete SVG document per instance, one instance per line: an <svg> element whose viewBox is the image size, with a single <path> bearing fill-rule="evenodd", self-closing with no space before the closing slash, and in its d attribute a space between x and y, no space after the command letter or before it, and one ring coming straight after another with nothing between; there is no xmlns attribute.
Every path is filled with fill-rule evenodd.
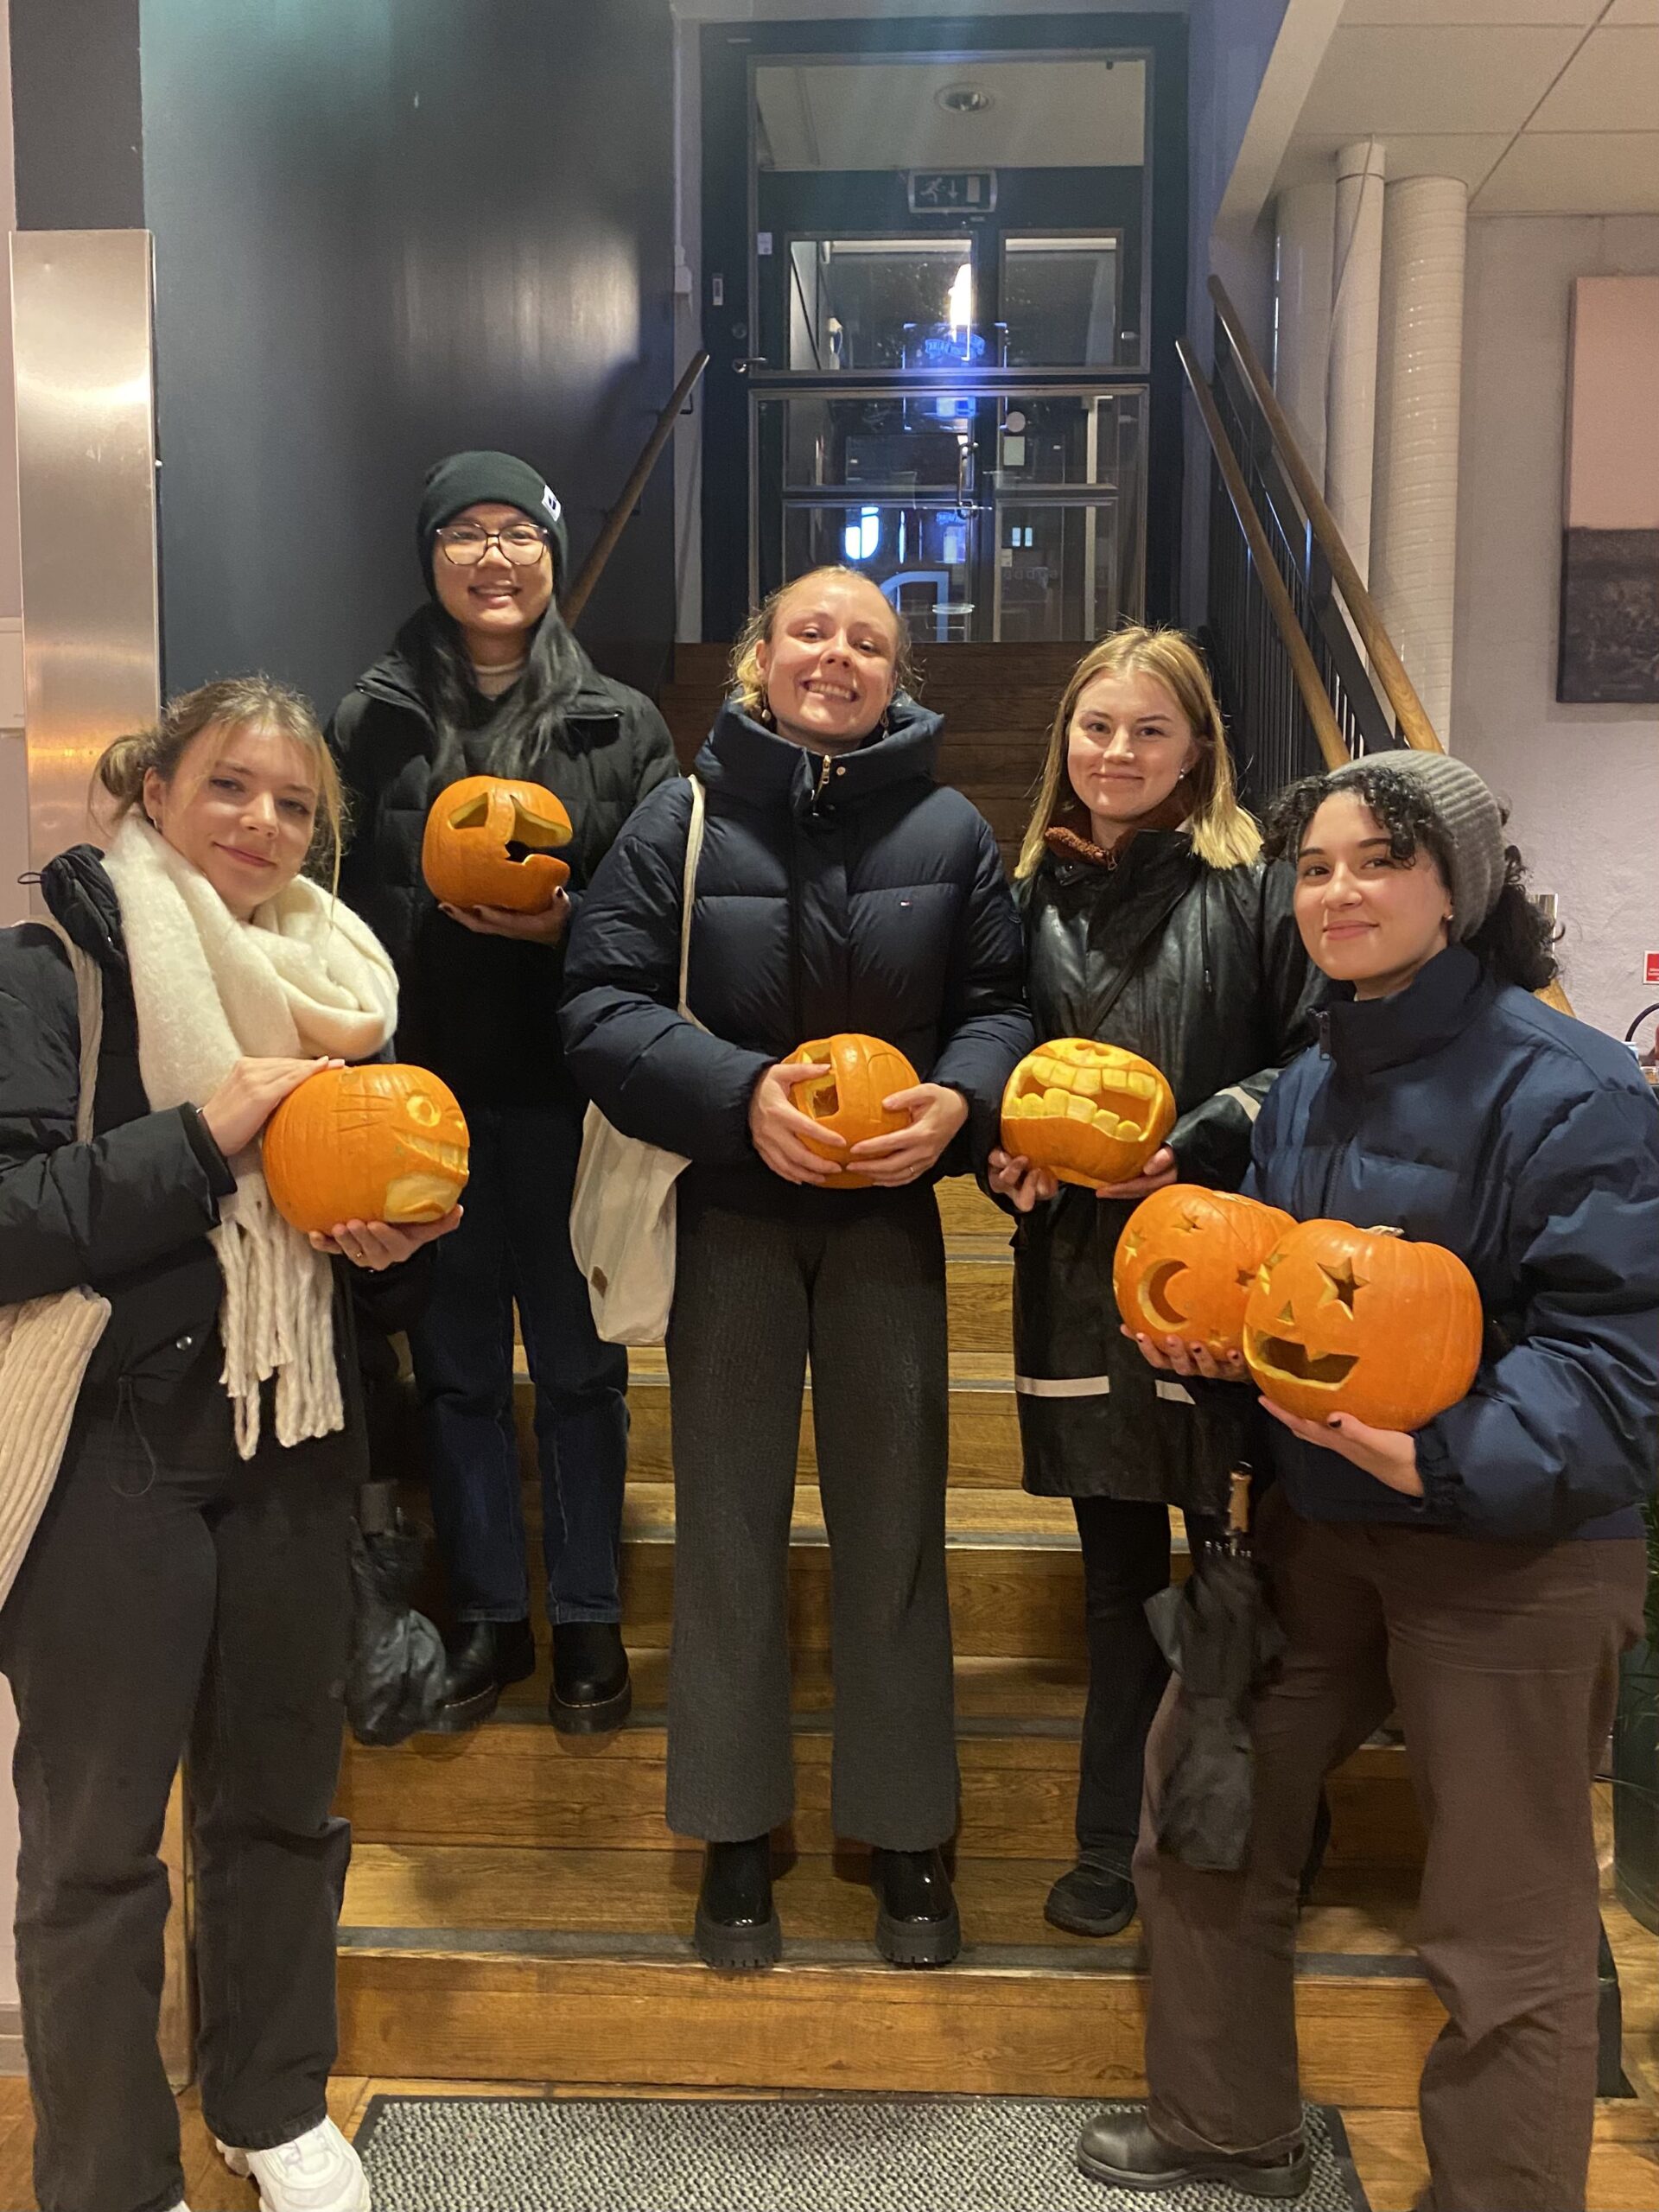
<svg viewBox="0 0 1659 2212"><path fill-rule="evenodd" d="M546 1617L617 1621L628 1354L593 1327L571 1256L582 1124L553 1106L469 1106L460 1228L438 1241L431 1298L409 1332L431 1515L462 1621L529 1613L513 1305L535 1385Z"/></svg>

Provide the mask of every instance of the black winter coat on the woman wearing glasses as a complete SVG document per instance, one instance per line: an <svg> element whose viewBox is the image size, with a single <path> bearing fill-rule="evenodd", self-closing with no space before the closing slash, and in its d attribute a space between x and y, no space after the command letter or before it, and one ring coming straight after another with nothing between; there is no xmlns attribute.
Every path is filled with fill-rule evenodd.
<svg viewBox="0 0 1659 2212"><path fill-rule="evenodd" d="M462 1106L575 1110L582 1099L557 1024L564 945L476 936L438 909L420 874L431 801L456 776L495 772L489 726L498 701L478 701L480 726L465 739L465 759L442 750L416 681L411 628L358 677L330 723L354 823L341 891L396 962L400 1060L442 1075ZM679 770L650 699L588 668L529 774L571 814L575 834L560 858L571 863L568 891L580 905L635 805Z"/></svg>

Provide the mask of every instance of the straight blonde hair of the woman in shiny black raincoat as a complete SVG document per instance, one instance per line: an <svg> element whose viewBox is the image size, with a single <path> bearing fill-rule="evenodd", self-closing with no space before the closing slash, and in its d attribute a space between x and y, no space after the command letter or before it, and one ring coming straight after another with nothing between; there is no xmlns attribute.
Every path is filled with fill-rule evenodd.
<svg viewBox="0 0 1659 2212"><path fill-rule="evenodd" d="M1026 823L1024 843L1015 878L1035 874L1046 845L1044 838L1055 825L1055 816L1077 812L1082 801L1071 790L1066 774L1066 750L1071 743L1071 719L1077 701L1097 677L1148 675L1170 692L1199 745L1199 759L1190 770L1192 812L1186 827L1192 849L1210 867L1241 867L1261 852L1261 827L1248 807L1239 805L1232 783L1232 759L1228 734L1221 728L1221 708L1210 688L1210 675L1199 648L1183 630L1126 628L1093 646L1071 672L1071 681L1060 697L1055 721L1048 732L1042 776L1037 779L1037 801Z"/></svg>

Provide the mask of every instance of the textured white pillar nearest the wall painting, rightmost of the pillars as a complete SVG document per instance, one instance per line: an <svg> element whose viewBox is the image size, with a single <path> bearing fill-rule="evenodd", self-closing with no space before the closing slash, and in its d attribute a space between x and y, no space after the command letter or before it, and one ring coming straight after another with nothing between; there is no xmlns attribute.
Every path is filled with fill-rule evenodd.
<svg viewBox="0 0 1659 2212"><path fill-rule="evenodd" d="M1451 743L1467 228L1469 186L1460 177L1407 177L1389 186L1371 593L1442 745Z"/></svg>

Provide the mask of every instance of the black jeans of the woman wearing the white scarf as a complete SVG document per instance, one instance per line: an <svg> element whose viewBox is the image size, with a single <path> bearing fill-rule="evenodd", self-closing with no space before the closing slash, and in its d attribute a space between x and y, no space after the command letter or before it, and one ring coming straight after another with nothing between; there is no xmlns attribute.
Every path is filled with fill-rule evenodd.
<svg viewBox="0 0 1659 2212"><path fill-rule="evenodd" d="M170 2212L184 2194L155 2037L157 1851L186 1745L204 2117L248 2150L325 2117L349 1513L338 1440L243 1464L228 1402L212 1469L153 1455L131 1413L71 1431L0 1613L42 2212Z"/></svg>

